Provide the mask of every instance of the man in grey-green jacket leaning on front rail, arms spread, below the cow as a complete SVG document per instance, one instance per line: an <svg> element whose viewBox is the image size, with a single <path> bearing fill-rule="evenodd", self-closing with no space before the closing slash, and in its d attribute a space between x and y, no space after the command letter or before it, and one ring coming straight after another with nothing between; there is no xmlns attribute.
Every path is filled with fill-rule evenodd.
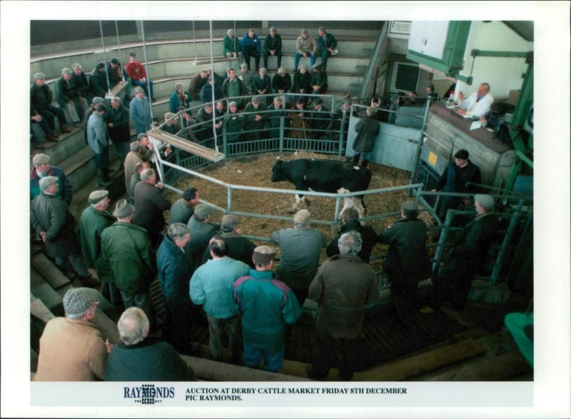
<svg viewBox="0 0 571 419"><path fill-rule="evenodd" d="M321 248L327 246L323 233L310 228L310 216L308 210L300 210L293 216L293 228L282 228L270 235L272 243L281 249L278 276L292 288L302 306L317 273Z"/></svg>

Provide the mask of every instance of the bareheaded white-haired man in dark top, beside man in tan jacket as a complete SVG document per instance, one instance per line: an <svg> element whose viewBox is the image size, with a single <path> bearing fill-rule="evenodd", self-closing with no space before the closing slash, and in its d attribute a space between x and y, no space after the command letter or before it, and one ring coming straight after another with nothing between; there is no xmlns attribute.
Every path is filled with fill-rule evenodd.
<svg viewBox="0 0 571 419"><path fill-rule="evenodd" d="M196 381L196 374L166 342L148 338L144 311L130 307L117 322L121 342L113 345L106 381Z"/></svg>

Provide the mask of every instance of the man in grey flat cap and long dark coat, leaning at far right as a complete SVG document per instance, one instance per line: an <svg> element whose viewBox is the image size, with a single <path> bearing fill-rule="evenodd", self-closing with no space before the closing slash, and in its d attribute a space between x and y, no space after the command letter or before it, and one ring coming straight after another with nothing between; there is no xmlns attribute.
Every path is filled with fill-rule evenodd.
<svg viewBox="0 0 571 419"><path fill-rule="evenodd" d="M428 296L429 306L422 313L431 313L445 300L461 311L472 286L472 278L482 270L487 252L497 234L495 199L491 195L474 196L476 216L456 236L448 251L445 264L433 277L433 287Z"/></svg>

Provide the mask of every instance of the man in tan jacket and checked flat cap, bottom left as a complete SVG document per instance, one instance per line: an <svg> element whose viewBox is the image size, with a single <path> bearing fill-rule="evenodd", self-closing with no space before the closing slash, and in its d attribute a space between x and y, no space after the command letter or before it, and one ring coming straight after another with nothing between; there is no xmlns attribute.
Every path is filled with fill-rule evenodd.
<svg viewBox="0 0 571 419"><path fill-rule="evenodd" d="M95 381L105 379L111 344L89 320L95 317L101 294L91 288L71 288L64 296L66 317L49 320L40 338L34 381Z"/></svg>

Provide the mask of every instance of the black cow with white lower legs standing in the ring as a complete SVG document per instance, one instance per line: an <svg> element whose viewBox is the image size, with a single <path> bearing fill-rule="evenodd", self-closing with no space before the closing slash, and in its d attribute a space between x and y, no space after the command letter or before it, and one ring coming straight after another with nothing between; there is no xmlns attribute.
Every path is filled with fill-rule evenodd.
<svg viewBox="0 0 571 419"><path fill-rule="evenodd" d="M276 161L272 168L272 182L288 181L295 185L296 191L315 191L330 193L348 193L366 191L371 173L368 168L353 166L352 163L333 160L315 160L298 158L291 161ZM296 210L300 201L308 203L307 198L295 195ZM354 206L361 217L365 216L363 195L344 198L343 209Z"/></svg>

